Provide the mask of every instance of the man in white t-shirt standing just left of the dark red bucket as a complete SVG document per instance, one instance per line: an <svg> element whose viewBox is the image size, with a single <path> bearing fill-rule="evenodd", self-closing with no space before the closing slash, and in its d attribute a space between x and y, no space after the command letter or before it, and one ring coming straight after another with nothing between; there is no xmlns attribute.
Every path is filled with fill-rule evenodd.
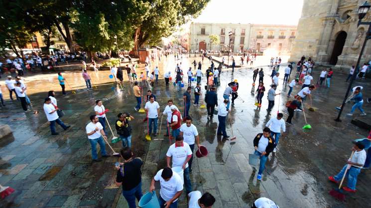
<svg viewBox="0 0 371 208"><path fill-rule="evenodd" d="M186 123L180 126L180 136L183 137L184 142L189 144L192 151L192 157L188 162L189 172L192 173L192 161L193 161L193 149L195 148L195 141L198 148L200 148L200 137L198 136L197 128L192 124L192 118L190 116L186 117Z"/></svg>

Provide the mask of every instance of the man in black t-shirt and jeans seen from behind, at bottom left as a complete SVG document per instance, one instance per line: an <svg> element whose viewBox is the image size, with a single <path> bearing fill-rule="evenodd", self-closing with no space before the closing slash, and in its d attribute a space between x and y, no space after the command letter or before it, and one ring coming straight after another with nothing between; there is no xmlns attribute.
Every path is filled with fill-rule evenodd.
<svg viewBox="0 0 371 208"><path fill-rule="evenodd" d="M140 158L133 158L133 153L129 147L120 150L124 163L116 163L117 176L115 184L117 187L123 186L123 196L129 208L136 208L135 198L141 199L142 178L141 166L143 162Z"/></svg>

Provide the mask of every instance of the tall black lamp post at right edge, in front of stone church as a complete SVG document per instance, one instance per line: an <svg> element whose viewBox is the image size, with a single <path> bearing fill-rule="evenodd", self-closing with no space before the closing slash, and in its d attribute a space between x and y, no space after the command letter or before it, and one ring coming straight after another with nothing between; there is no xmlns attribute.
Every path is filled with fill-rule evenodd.
<svg viewBox="0 0 371 208"><path fill-rule="evenodd" d="M367 40L371 39L371 22L363 22L362 21L362 19L366 16L367 12L369 11L370 7L371 7L371 5L367 1L365 1L358 8L358 18L359 18L359 20L358 20L358 26L360 26L360 25L369 25L369 29L366 32L366 38L365 38L365 40L363 42L363 45L362 45L362 48L361 48L361 52L360 52L360 55L359 55L358 60L357 60L356 70L353 73L353 76L351 78L351 82L349 83L347 93L345 93L345 97L344 97L344 100L343 100L343 104L342 104L342 106L340 108L340 111L339 111L339 114L338 114L338 118L335 119L335 121L337 121L337 122L341 122L340 116L341 116L341 114L343 112L343 109L344 109L344 106L345 106L345 102L346 102L346 100L348 98L348 95L349 95L349 91L352 88L353 81L357 77L356 71L357 71L357 69L360 68L360 62L361 62L361 58L362 58L363 52L364 52L365 47L366 47Z"/></svg>

